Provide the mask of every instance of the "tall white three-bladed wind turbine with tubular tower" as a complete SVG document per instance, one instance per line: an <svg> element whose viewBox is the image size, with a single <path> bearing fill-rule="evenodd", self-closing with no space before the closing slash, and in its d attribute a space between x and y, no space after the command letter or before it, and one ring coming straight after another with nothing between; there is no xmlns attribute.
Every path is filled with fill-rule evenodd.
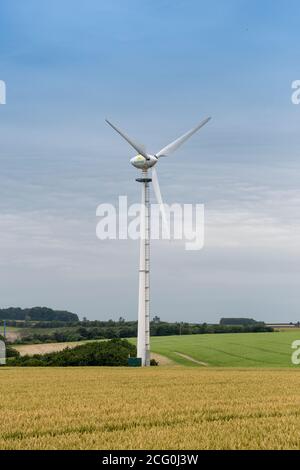
<svg viewBox="0 0 300 470"><path fill-rule="evenodd" d="M196 127L186 132L154 155L148 153L144 145L131 139L131 137L125 134L125 132L106 119L107 124L118 132L118 134L120 134L120 136L123 137L123 139L125 139L131 147L136 150L136 152L138 152L138 155L133 157L130 160L130 163L135 168L142 171L141 177L136 179L138 183L142 183L137 341L137 355L141 358L142 366L150 365L150 183L152 182L153 184L155 197L159 204L163 224L166 229L167 219L155 165L159 158L167 157L170 153L177 150L184 142L195 134L195 132L205 126L210 119L210 117L204 119L204 121L201 121ZM149 169L151 169L151 177L149 177L148 174Z"/></svg>

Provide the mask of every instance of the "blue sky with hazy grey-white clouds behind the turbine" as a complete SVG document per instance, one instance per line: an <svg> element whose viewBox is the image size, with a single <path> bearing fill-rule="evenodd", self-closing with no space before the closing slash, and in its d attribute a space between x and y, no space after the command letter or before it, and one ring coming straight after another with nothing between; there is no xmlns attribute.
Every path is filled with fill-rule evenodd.
<svg viewBox="0 0 300 470"><path fill-rule="evenodd" d="M96 207L138 201L133 156L157 150L166 202L205 204L206 245L152 249L167 320L299 319L297 1L2 0L1 306L136 318L138 246L100 242Z"/></svg>

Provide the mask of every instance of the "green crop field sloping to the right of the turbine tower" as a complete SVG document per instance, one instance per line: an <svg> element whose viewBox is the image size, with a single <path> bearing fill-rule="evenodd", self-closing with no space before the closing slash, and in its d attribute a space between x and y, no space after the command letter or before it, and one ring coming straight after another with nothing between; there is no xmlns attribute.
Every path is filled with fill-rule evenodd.
<svg viewBox="0 0 300 470"><path fill-rule="evenodd" d="M199 363L220 367L297 367L291 362L295 340L300 340L300 330L170 336L151 338L151 349L179 364L195 367Z"/></svg>

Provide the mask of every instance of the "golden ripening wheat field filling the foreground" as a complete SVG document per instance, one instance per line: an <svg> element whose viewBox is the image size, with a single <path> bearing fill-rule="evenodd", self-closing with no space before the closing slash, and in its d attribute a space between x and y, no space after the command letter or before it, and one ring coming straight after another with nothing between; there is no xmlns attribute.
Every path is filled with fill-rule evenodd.
<svg viewBox="0 0 300 470"><path fill-rule="evenodd" d="M295 370L1 368L1 449L297 449Z"/></svg>

